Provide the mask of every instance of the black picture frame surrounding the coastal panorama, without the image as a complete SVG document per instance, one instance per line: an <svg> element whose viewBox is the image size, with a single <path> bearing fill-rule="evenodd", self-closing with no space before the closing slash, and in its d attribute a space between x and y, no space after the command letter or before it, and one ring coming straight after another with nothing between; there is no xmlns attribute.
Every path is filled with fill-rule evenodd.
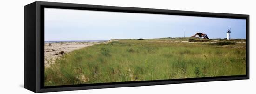
<svg viewBox="0 0 256 94"><path fill-rule="evenodd" d="M128 12L128 13L150 13L150 14L167 14L167 15L186 15L200 17L218 17L218 18L236 18L246 20L246 75L221 76L221 77L203 77L203 78L186 78L170 79L155 81L132 81L132 82L113 82L113 83L96 83L67 86L47 86L44 83L44 8L61 8L61 9L78 9L94 10L109 12ZM55 3L36 1L24 7L25 26L24 26L24 87L36 93L83 90L112 87L133 87L147 85L163 85L190 82L206 81L227 81L249 79L249 15L228 14L228 13L207 13L192 11L177 11L164 9L149 9L135 7L114 7L99 6L86 4Z"/></svg>

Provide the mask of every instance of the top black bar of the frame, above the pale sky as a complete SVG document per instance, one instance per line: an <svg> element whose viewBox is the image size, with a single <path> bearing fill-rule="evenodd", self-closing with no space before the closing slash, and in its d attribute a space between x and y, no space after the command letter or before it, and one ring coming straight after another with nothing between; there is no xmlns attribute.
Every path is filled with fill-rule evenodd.
<svg viewBox="0 0 256 94"><path fill-rule="evenodd" d="M62 8L62 9L78 9L78 10L92 9L95 11L99 10L99 11L109 11L109 12L153 13L153 14L172 13L172 15L189 15L189 16L237 18L237 19L244 19L247 16L249 16L248 14L210 13L210 12L153 9L153 8L140 8L140 7L116 7L116 6L105 6L105 5L88 5L88 4L74 4L74 3L45 2L45 1L36 1L36 2L41 6Z"/></svg>

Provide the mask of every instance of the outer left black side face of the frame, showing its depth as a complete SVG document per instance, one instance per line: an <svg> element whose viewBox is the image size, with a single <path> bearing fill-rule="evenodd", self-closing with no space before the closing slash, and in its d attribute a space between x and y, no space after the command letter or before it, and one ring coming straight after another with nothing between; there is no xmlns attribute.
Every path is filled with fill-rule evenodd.
<svg viewBox="0 0 256 94"><path fill-rule="evenodd" d="M24 88L36 92L35 85L35 6L24 6Z"/></svg>

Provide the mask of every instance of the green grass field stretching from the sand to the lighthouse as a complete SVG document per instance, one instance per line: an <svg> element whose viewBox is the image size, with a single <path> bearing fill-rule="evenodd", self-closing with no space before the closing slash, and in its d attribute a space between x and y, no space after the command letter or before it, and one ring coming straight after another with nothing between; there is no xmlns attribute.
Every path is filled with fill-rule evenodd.
<svg viewBox="0 0 256 94"><path fill-rule="evenodd" d="M95 44L65 54L50 67L45 67L44 85L246 74L245 39L197 40L126 39Z"/></svg>

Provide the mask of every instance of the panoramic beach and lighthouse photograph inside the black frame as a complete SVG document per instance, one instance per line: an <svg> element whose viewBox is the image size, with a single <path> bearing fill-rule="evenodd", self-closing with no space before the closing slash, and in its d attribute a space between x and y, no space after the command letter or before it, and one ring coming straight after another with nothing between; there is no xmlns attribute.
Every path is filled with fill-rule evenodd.
<svg viewBox="0 0 256 94"><path fill-rule="evenodd" d="M44 9L44 86L245 74L245 19Z"/></svg>

